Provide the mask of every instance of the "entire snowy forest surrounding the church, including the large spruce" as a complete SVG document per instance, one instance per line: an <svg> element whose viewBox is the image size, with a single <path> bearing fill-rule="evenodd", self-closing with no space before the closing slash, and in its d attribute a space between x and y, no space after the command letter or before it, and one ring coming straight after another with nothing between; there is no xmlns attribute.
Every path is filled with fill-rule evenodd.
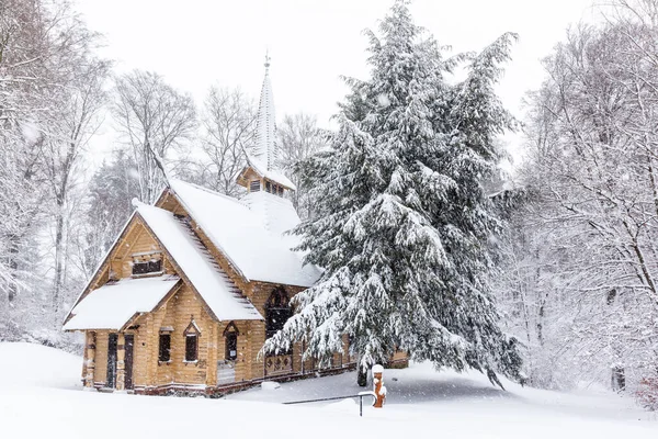
<svg viewBox="0 0 658 439"><path fill-rule="evenodd" d="M592 5L595 23L537 54L544 81L519 114L497 87L523 35L455 53L392 3L328 127L276 121L292 233L325 271L265 348L322 357L349 334L363 364L398 347L658 409L658 1ZM63 320L132 200L155 202L167 176L245 191L257 97L117 74L102 41L68 0L0 1L0 341L80 351Z"/></svg>

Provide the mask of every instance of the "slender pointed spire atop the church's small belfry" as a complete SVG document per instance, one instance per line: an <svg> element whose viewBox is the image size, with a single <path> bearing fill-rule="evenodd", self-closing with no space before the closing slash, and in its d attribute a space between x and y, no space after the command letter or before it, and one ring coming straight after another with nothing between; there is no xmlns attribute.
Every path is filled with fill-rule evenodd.
<svg viewBox="0 0 658 439"><path fill-rule="evenodd" d="M276 121L274 116L272 83L270 82L270 56L265 55L265 78L263 79L263 88L258 105L253 158L260 161L268 171L277 168L279 157L275 136Z"/></svg>

